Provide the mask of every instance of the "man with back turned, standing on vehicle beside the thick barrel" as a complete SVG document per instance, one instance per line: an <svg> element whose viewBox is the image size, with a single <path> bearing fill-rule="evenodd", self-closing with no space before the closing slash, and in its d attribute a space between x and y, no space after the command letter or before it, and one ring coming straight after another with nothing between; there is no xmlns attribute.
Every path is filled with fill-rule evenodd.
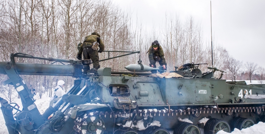
<svg viewBox="0 0 265 134"><path fill-rule="evenodd" d="M93 50L91 47L93 45L93 42L98 42L99 43L99 50ZM91 58L93 62L93 68L94 69L99 69L99 52L104 51L104 43L100 39L100 35L97 32L91 33L91 35L88 35L85 37L85 40L83 44L80 46L80 49L78 50L77 54L77 59L81 60L82 59L82 52L83 52L83 57L84 60L88 60ZM84 71L90 70L89 65L84 66Z"/></svg>

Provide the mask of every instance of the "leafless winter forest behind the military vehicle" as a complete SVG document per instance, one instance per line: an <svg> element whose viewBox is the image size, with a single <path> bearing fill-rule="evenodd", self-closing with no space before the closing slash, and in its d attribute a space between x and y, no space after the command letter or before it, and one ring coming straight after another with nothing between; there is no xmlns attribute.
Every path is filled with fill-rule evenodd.
<svg viewBox="0 0 265 134"><path fill-rule="evenodd" d="M96 31L104 41L105 50L141 51L100 62L101 67L124 70L137 64L139 56L143 65L149 65L148 48L154 40L162 46L167 71L185 63L200 65L202 72L212 65L211 37L205 37L199 22L192 16L180 20L176 13L165 13L159 29L149 31L130 10L124 11L111 0L0 0L0 61L10 61L11 53L26 53L37 57L77 60L77 45L87 35ZM222 79L258 80L265 82L265 71L256 63L239 61L221 47L213 35L213 67L226 71ZM110 52L110 57L126 53ZM107 52L99 58L108 58ZM16 58L16 62L51 64L50 61ZM60 63L56 63L60 64ZM91 67L91 65L90 65ZM216 74L218 77L219 74ZM26 84L36 89L39 98L50 97L58 80L66 82L69 89L75 78L62 76L21 76ZM0 75L0 83L7 80ZM11 102L13 86L0 84L4 98Z"/></svg>

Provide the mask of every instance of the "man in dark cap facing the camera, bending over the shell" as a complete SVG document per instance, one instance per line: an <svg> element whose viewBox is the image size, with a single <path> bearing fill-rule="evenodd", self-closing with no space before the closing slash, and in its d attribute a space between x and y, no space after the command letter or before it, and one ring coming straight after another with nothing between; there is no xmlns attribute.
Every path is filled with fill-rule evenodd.
<svg viewBox="0 0 265 134"><path fill-rule="evenodd" d="M156 62L166 70L166 59L164 57L164 52L157 40L152 43L152 46L148 50L148 57L150 61L150 67L156 68ZM156 71L152 71L156 73Z"/></svg>

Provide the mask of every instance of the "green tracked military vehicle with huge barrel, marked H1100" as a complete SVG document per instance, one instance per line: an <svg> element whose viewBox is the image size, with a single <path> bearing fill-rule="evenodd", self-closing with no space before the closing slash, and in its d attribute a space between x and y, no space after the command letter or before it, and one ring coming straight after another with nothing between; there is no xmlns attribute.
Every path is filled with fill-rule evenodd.
<svg viewBox="0 0 265 134"><path fill-rule="evenodd" d="M15 57L69 65L16 63ZM108 67L82 72L83 65L90 63L22 53L0 62L0 73L9 77L3 84L14 85L23 105L21 111L16 103L0 98L8 133L215 134L265 121L264 86L226 82L220 80L222 75L214 78L213 73L220 71L216 68L202 73L198 65L189 63L170 73L152 75ZM139 65L144 70L140 60ZM40 114L34 95L19 75L72 76L76 80L62 98Z"/></svg>

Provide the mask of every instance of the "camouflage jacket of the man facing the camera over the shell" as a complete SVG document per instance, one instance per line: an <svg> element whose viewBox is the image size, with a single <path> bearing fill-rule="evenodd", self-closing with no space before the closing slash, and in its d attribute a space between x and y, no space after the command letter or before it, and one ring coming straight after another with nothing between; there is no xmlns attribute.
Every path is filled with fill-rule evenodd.
<svg viewBox="0 0 265 134"><path fill-rule="evenodd" d="M155 65L156 64L156 60L154 59L154 56L159 56L160 61L159 64L162 65L166 65L166 59L164 57L164 52L161 46L159 46L157 51L154 51L153 47L151 46L148 50L148 58L150 61L150 65Z"/></svg>

